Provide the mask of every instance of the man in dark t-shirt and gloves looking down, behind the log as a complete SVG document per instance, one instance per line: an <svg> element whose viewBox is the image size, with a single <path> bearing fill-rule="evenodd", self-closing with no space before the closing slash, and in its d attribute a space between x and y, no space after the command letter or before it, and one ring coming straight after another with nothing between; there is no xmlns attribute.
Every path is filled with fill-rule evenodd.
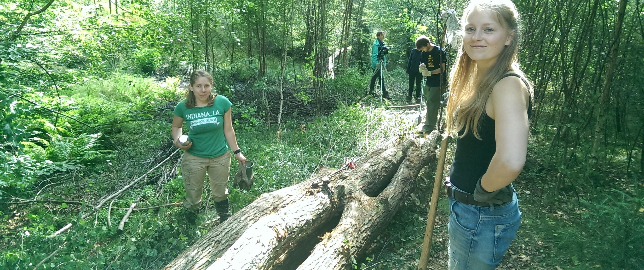
<svg viewBox="0 0 644 270"><path fill-rule="evenodd" d="M427 82L424 87L424 96L427 98L427 114L425 115L425 124L421 132L431 132L436 128L437 115L440 107L440 85L446 83L445 63L447 55L445 50L437 44L431 43L430 39L421 35L416 39L416 49L424 52L421 59L422 75L426 77Z"/></svg>

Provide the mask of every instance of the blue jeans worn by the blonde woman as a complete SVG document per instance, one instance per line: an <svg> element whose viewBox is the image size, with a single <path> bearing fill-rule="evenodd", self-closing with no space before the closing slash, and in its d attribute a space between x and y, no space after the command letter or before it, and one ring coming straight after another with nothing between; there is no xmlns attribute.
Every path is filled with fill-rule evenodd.
<svg viewBox="0 0 644 270"><path fill-rule="evenodd" d="M495 269L516 237L521 211L514 193L512 202L498 207L450 202L450 270Z"/></svg>

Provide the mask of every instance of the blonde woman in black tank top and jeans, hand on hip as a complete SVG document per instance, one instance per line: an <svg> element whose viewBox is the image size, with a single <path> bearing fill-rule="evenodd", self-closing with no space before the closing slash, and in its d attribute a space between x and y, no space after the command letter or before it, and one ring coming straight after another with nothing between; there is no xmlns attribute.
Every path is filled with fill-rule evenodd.
<svg viewBox="0 0 644 270"><path fill-rule="evenodd" d="M463 14L447 108L446 132L458 137L447 182L448 267L495 269L520 224L511 183L526 161L532 90L518 64L515 5L471 1Z"/></svg>

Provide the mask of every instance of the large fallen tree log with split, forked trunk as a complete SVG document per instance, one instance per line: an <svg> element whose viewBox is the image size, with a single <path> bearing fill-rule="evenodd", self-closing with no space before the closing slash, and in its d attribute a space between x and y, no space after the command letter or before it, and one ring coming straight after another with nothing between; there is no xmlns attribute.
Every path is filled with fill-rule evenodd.
<svg viewBox="0 0 644 270"><path fill-rule="evenodd" d="M409 196L436 136L393 138L355 169L261 195L164 269L348 269Z"/></svg>

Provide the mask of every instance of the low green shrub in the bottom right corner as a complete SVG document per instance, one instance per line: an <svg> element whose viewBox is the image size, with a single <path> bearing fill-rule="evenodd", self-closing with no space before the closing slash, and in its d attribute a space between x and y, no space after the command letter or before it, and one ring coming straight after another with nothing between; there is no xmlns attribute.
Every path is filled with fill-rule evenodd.
<svg viewBox="0 0 644 270"><path fill-rule="evenodd" d="M594 201L580 199L581 220L556 231L559 249L575 265L603 269L638 269L644 265L643 200L612 189Z"/></svg>

